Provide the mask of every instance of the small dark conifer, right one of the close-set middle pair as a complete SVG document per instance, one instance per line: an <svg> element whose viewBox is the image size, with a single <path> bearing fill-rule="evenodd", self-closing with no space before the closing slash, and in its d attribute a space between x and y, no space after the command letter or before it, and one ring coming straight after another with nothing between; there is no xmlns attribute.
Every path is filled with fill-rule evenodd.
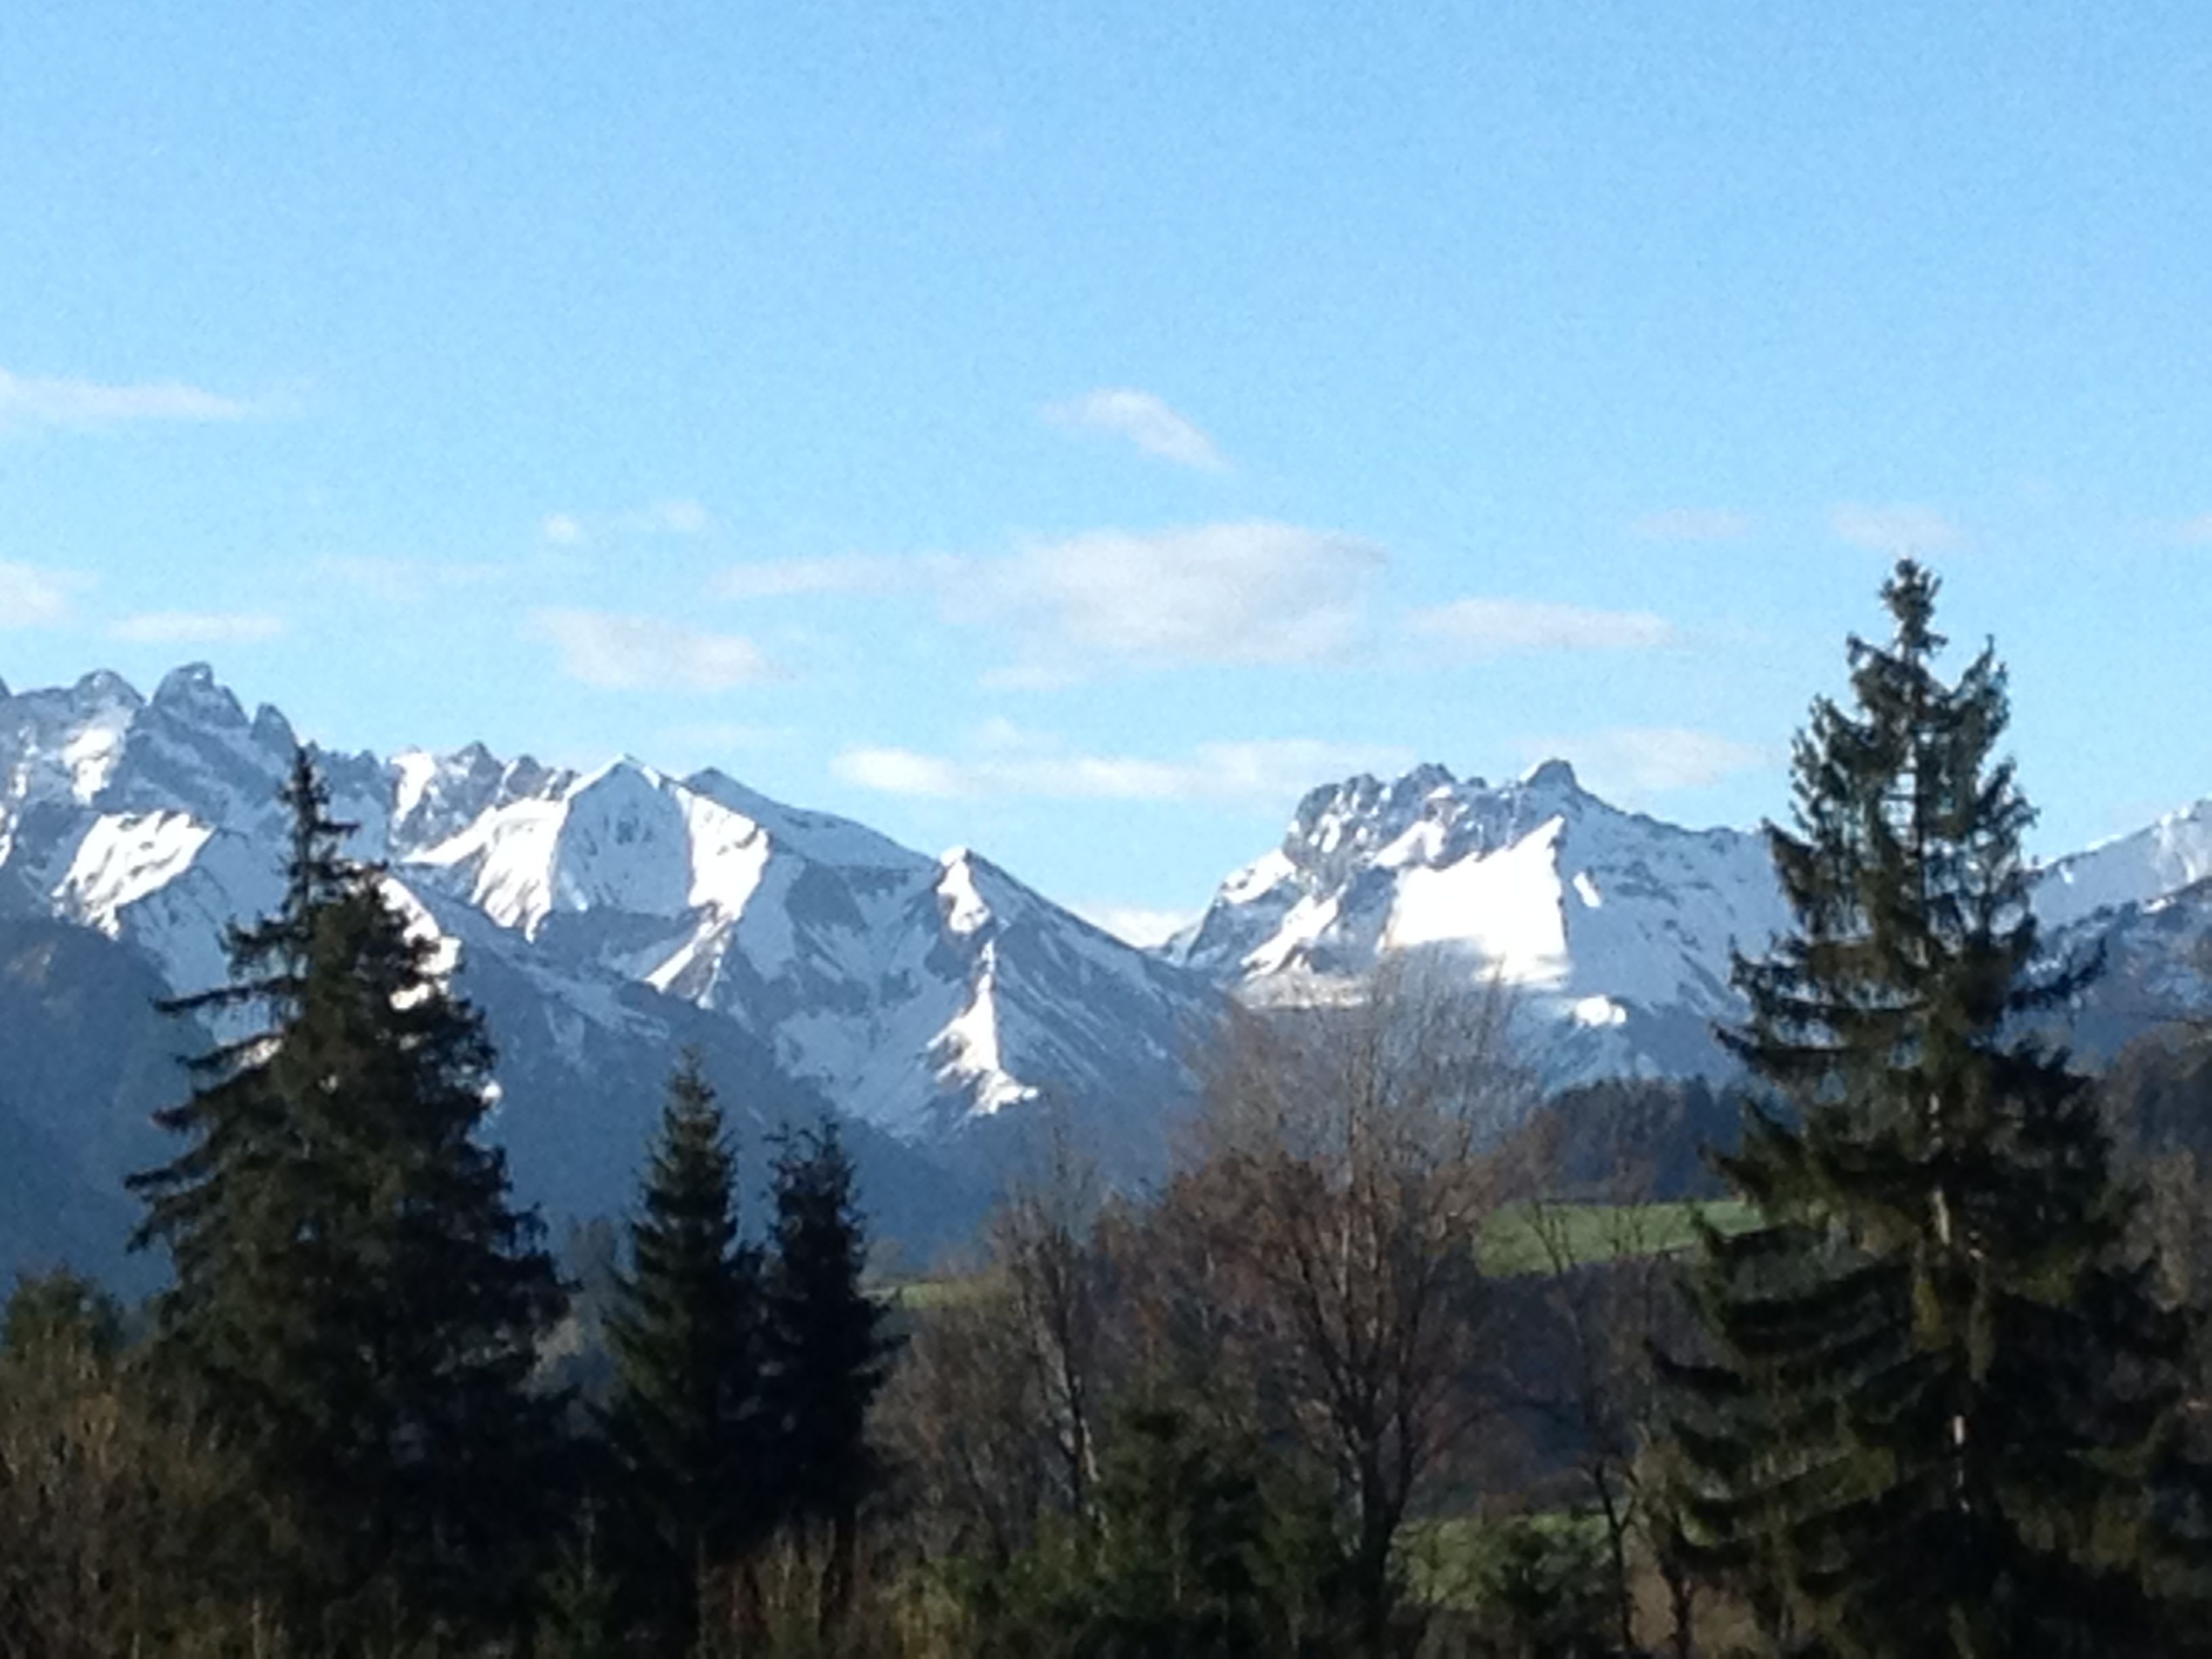
<svg viewBox="0 0 2212 1659"><path fill-rule="evenodd" d="M889 1376L889 1307L867 1294L867 1232L834 1119L792 1133L774 1170L768 1263L768 1405L781 1520L825 1535L821 1624L852 1604L863 1502L883 1482L867 1411Z"/></svg>

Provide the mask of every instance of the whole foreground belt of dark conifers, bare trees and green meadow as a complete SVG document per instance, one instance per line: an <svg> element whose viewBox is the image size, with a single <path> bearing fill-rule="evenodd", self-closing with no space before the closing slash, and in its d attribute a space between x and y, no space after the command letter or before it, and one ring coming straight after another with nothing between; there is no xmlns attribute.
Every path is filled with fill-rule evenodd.
<svg viewBox="0 0 2212 1659"><path fill-rule="evenodd" d="M135 1179L173 1281L0 1329L0 1650L2190 1655L2205 1206L2066 1048L2004 668L1900 562L1772 827L1741 1099L1540 1108L1400 960L1232 1011L1168 1177L1035 1113L958 1272L869 1274L832 1121L761 1217L695 1057L604 1283L484 1137L491 1046L301 759L279 911ZM1725 1117L1701 1203L1686 1133ZM1686 1126L1690 1126L1686 1130ZM1661 1172L1663 1166L1663 1172Z"/></svg>

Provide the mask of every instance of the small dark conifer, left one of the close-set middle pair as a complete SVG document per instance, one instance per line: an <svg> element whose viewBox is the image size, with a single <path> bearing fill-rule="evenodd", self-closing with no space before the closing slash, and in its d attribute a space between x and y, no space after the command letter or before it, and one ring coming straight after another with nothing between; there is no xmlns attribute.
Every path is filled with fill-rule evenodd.
<svg viewBox="0 0 2212 1659"><path fill-rule="evenodd" d="M644 1520L639 1597L688 1652L699 1588L763 1533L759 1252L739 1243L732 1155L714 1091L686 1053L668 1079L633 1270L608 1321L608 1438Z"/></svg>

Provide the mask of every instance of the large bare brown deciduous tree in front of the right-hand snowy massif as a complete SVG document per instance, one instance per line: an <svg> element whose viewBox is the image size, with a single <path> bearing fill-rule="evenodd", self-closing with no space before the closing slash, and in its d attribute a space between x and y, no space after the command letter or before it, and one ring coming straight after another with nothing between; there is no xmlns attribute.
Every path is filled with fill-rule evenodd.
<svg viewBox="0 0 2212 1659"><path fill-rule="evenodd" d="M1400 1526L1471 1418L1489 1148L1526 1102L1506 1000L1394 964L1327 1011L1232 1015L1203 1084L1201 1166L1166 1214L1201 1230L1232 1340L1336 1469L1363 1646L1385 1652Z"/></svg>

